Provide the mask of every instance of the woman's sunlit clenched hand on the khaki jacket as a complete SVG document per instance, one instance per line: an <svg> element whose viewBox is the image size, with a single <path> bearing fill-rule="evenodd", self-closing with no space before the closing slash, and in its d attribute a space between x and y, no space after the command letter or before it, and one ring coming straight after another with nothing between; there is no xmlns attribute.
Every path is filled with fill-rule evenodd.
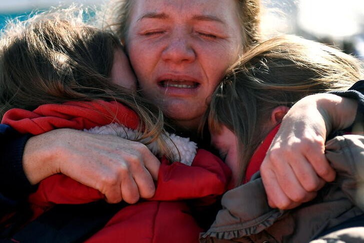
<svg viewBox="0 0 364 243"><path fill-rule="evenodd" d="M335 171L324 154L326 135L351 125L356 108L353 100L317 94L288 111L260 167L271 207L296 207L334 180Z"/></svg>

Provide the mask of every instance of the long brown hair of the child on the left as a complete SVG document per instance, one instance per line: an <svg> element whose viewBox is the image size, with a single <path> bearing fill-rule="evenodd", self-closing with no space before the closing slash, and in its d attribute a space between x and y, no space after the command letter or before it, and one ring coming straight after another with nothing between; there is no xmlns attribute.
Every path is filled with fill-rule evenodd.
<svg viewBox="0 0 364 243"><path fill-rule="evenodd" d="M0 41L1 116L11 108L116 100L138 114L138 140L152 137L149 142L156 140L167 151L159 138L161 111L108 78L115 49L122 48L118 38L82 23L82 18L82 12L71 8L7 25Z"/></svg>

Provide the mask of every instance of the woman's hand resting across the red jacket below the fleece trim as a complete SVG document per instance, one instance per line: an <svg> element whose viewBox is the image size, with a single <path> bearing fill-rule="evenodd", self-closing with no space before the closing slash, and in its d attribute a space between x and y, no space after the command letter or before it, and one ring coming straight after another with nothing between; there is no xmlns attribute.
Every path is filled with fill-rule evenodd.
<svg viewBox="0 0 364 243"><path fill-rule="evenodd" d="M159 160L141 143L113 135L57 129L34 136L24 148L30 183L62 173L99 190L110 203L154 195Z"/></svg>

